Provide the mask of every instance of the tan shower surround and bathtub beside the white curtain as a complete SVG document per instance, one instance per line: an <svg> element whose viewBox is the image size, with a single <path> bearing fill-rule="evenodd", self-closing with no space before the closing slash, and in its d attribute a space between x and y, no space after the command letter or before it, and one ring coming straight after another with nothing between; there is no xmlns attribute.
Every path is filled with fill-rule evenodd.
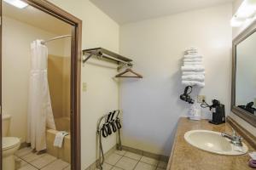
<svg viewBox="0 0 256 170"><path fill-rule="evenodd" d="M47 152L63 161L70 163L71 140L70 140L70 56L48 55L48 80L49 94L56 129L47 129ZM65 131L69 134L65 136L61 148L55 147L54 141L56 133Z"/></svg>

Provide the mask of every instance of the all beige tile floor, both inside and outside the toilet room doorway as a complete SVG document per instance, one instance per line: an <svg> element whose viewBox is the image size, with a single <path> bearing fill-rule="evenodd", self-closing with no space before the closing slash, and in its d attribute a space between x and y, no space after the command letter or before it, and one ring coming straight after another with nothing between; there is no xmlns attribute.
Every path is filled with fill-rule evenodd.
<svg viewBox="0 0 256 170"><path fill-rule="evenodd" d="M30 148L15 153L20 165L17 170L70 170L70 164L45 153L37 155ZM165 170L167 163L128 151L114 151L106 157L103 170Z"/></svg>

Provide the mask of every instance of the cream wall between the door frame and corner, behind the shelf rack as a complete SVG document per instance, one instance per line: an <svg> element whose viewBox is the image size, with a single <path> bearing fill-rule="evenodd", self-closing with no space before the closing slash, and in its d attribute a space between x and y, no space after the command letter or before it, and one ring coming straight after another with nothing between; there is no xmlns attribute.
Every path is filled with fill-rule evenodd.
<svg viewBox="0 0 256 170"><path fill-rule="evenodd" d="M119 25L89 0L50 2L83 20L82 48L108 48L119 52ZM110 68L109 68L110 67ZM119 108L119 84L113 80L116 65L90 59L82 67L81 81L87 91L81 92L81 162L82 169L96 161L96 123L100 116ZM112 135L103 139L104 151L116 144Z"/></svg>

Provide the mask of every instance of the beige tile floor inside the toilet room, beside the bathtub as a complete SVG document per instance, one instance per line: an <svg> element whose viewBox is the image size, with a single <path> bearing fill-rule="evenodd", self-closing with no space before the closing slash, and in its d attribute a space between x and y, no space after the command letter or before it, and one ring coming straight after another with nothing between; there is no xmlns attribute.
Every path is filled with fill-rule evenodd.
<svg viewBox="0 0 256 170"><path fill-rule="evenodd" d="M37 155L30 148L23 148L15 153L17 170L70 170L70 164L49 154Z"/></svg>

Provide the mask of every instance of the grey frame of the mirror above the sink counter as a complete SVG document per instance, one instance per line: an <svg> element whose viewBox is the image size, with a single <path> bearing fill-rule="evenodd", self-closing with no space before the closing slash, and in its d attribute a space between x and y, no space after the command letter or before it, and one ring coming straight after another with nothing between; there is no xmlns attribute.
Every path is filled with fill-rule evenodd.
<svg viewBox="0 0 256 170"><path fill-rule="evenodd" d="M253 127L256 127L256 116L251 113L242 110L236 106L236 46L256 32L256 20L248 26L244 31L233 40L232 43L232 91L231 91L231 111L240 116L243 120L250 123Z"/></svg>

